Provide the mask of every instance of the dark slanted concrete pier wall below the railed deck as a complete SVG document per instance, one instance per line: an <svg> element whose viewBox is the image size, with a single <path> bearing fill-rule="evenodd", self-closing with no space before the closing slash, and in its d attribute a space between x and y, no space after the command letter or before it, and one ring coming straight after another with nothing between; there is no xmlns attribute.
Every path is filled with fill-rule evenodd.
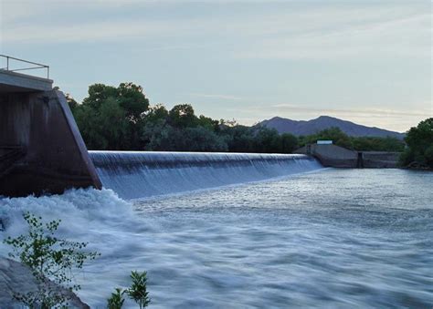
<svg viewBox="0 0 433 309"><path fill-rule="evenodd" d="M100 188L79 129L63 93L56 90L0 94L0 195L61 193L69 188ZM6 149L6 150L5 150Z"/></svg>

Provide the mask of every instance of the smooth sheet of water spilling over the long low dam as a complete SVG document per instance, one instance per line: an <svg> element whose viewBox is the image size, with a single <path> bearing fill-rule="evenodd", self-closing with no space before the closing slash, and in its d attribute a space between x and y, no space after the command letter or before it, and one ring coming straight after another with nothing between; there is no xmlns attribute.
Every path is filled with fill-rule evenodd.
<svg viewBox="0 0 433 309"><path fill-rule="evenodd" d="M140 199L318 170L297 154L89 151L103 187Z"/></svg>

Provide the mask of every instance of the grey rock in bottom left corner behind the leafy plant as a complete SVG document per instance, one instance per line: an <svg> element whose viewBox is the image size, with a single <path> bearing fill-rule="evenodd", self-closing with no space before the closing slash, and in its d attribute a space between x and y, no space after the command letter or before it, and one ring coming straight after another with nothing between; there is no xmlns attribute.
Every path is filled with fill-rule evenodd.
<svg viewBox="0 0 433 309"><path fill-rule="evenodd" d="M28 267L0 256L0 308L22 308L23 304L13 297L14 291L25 294L36 290L37 285ZM81 302L76 294L67 289L62 291L69 295L69 308L90 308L89 305Z"/></svg>

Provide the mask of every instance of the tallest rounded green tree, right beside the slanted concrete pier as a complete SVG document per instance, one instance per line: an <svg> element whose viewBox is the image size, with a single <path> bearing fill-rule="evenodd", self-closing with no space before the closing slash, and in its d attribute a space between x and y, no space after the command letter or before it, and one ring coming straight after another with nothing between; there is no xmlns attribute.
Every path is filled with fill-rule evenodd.
<svg viewBox="0 0 433 309"><path fill-rule="evenodd" d="M141 127L149 99L141 86L94 84L72 111L90 149L143 149Z"/></svg>

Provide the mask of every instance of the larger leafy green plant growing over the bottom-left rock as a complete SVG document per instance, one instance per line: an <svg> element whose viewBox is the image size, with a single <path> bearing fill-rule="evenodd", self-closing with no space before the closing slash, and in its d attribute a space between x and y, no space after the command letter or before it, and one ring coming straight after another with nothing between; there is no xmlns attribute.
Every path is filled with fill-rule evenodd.
<svg viewBox="0 0 433 309"><path fill-rule="evenodd" d="M87 242L69 242L58 239L55 232L60 220L42 222L30 212L24 219L28 233L16 238L8 237L5 243L13 247L9 256L28 266L34 276L37 291L23 294L14 291L14 298L30 308L67 306L70 296L63 289L78 291L73 283L72 271L81 269L87 260L94 260L98 252L84 252Z"/></svg>

